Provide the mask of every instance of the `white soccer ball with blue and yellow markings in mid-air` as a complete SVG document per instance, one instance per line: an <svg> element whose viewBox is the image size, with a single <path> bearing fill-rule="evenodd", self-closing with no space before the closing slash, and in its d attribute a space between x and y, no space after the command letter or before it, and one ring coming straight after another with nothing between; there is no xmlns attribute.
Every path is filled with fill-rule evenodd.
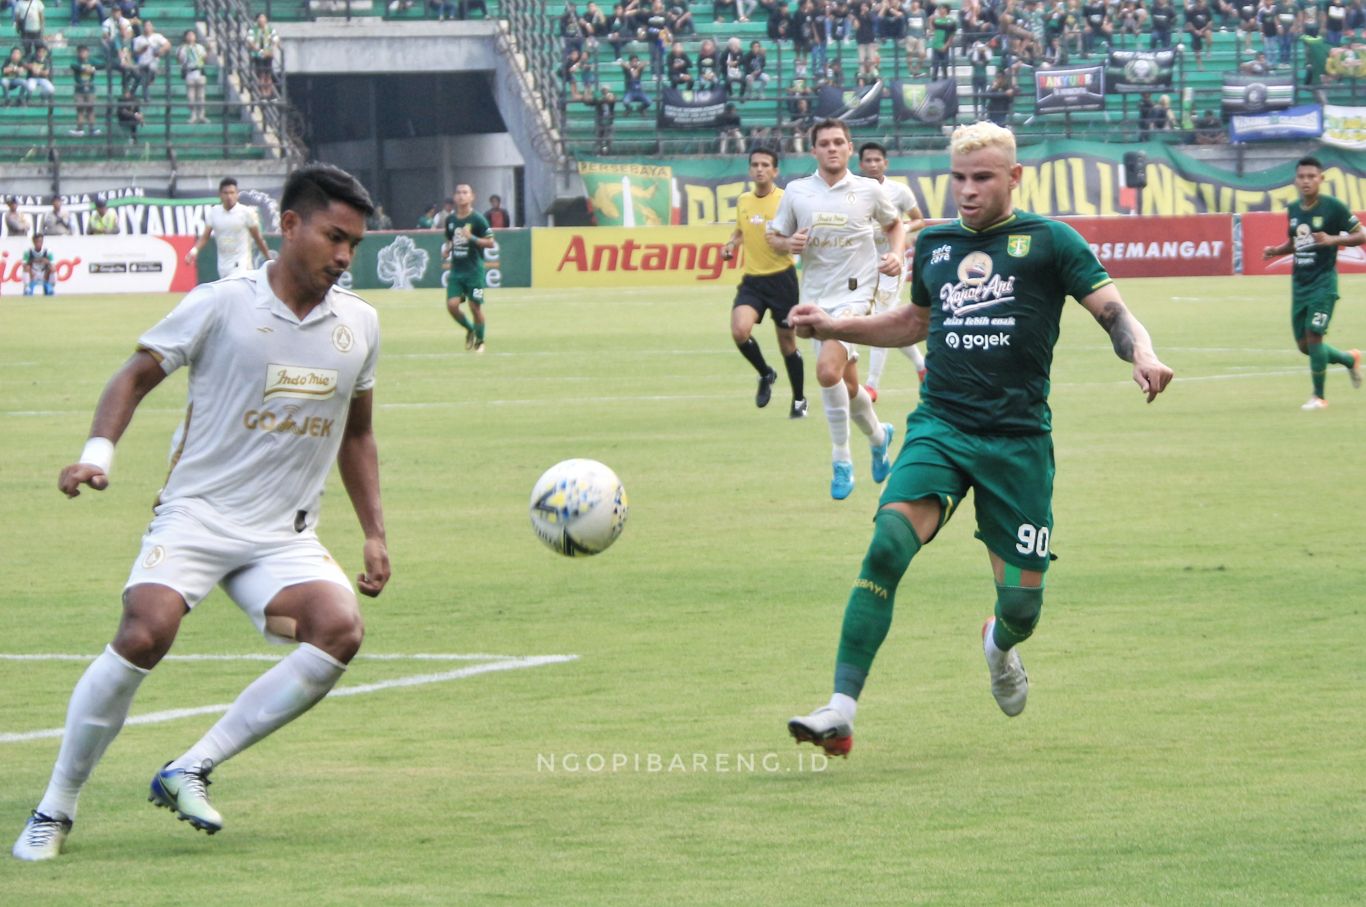
<svg viewBox="0 0 1366 907"><path fill-rule="evenodd" d="M531 489L531 529L566 557L598 555L626 526L626 489L616 473L597 460L563 460Z"/></svg>

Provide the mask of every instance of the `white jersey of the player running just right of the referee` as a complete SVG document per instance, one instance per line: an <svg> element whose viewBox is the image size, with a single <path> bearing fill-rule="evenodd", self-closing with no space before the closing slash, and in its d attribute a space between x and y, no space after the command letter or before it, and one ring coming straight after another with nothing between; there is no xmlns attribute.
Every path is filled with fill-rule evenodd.
<svg viewBox="0 0 1366 907"><path fill-rule="evenodd" d="M878 264L873 234L896 219L876 180L846 172L828 186L816 172L784 187L768 229L784 236L809 229L802 251L802 302L836 311L873 302Z"/></svg>

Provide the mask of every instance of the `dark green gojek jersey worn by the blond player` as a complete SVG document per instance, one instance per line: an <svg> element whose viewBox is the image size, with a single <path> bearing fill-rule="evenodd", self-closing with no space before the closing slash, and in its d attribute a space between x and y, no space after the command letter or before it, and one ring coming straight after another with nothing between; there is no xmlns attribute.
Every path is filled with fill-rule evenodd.
<svg viewBox="0 0 1366 907"><path fill-rule="evenodd" d="M915 239L911 303L930 309L921 406L975 434L1052 430L1048 376L1063 301L1111 283L1082 236L1016 210L982 231L951 221Z"/></svg>

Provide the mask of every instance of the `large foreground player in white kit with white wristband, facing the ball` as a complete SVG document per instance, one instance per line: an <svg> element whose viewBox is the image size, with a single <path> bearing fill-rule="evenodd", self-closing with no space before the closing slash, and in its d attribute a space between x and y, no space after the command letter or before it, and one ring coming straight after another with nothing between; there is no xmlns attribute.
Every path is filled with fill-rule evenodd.
<svg viewBox="0 0 1366 907"><path fill-rule="evenodd" d="M81 459L61 470L70 497L107 488L138 404L190 369L183 448L124 586L117 634L71 694L52 780L14 846L19 859L61 852L81 787L138 684L214 585L268 639L299 643L152 779L153 803L210 835L223 828L209 773L322 699L361 647L355 593L314 534L333 460L365 534L357 585L378 596L389 579L370 421L378 318L333 285L370 198L350 173L316 164L290 176L280 208L279 260L199 287L143 333L100 397Z"/></svg>

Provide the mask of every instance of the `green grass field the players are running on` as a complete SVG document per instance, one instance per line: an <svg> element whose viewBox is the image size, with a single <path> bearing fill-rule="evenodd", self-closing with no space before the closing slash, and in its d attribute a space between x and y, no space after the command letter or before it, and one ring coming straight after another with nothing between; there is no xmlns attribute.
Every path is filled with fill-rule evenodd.
<svg viewBox="0 0 1366 907"><path fill-rule="evenodd" d="M489 352L436 292L374 292L395 575L363 602L339 688L494 656L534 668L320 705L214 775L206 837L146 784L214 720L127 727L67 852L0 859L0 903L53 904L1351 904L1366 887L1361 515L1366 392L1307 365L1274 279L1130 280L1177 380L1145 406L1070 306L1053 369L1059 561L1022 649L1030 706L992 701L993 601L971 510L911 566L848 761L784 723L824 703L876 488L828 496L829 441L787 391L753 404L731 290L490 292ZM1366 346L1366 279L1330 339ZM171 296L5 296L0 608L7 654L94 656L165 474L173 376L67 501L108 374ZM755 335L776 361L772 331ZM917 399L895 357L878 413ZM527 523L537 475L611 464L616 546L567 560ZM321 530L361 542L333 477ZM269 654L216 593L176 654ZM488 653L474 661L377 660ZM494 662L499 664L499 662ZM258 661L167 661L134 716L231 702ZM0 660L0 826L46 783L74 660ZM624 764L623 764L624 762Z"/></svg>

